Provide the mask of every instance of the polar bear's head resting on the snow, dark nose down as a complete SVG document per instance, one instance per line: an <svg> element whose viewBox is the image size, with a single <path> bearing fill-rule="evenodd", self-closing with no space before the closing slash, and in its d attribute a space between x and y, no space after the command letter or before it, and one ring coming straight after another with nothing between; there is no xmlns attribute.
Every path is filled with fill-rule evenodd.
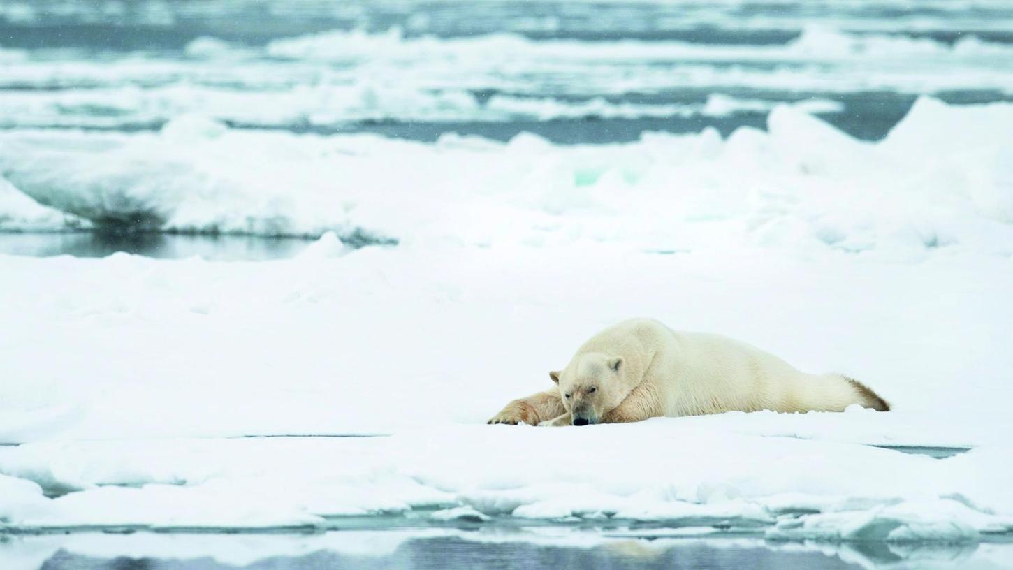
<svg viewBox="0 0 1013 570"><path fill-rule="evenodd" d="M589 352L574 357L562 371L549 373L549 378L559 385L573 425L588 425L600 422L629 395L624 372L622 356Z"/></svg>

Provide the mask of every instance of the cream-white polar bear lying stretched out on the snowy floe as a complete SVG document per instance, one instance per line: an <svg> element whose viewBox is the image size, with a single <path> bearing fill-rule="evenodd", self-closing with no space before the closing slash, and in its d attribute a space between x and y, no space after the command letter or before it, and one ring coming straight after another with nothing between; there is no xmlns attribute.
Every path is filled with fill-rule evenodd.
<svg viewBox="0 0 1013 570"><path fill-rule="evenodd" d="M603 330L549 377L555 389L514 400L488 423L587 425L731 410L840 412L851 404L889 410L848 377L801 373L745 342L675 331L653 319Z"/></svg>

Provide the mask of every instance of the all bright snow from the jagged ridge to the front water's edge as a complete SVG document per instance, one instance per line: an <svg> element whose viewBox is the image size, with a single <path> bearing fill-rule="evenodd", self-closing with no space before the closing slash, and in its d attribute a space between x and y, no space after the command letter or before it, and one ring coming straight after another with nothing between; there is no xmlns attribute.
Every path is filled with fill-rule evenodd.
<svg viewBox="0 0 1013 570"><path fill-rule="evenodd" d="M360 39L395 55L416 42ZM753 103L706 106L736 104ZM322 236L263 262L0 255L0 528L419 514L787 542L1009 536L1013 105L924 97L865 143L809 104L727 139L598 146L241 131L190 112L157 133L0 133L4 229ZM359 247L370 238L388 245ZM894 411L484 424L636 315L847 374ZM337 436L242 437L278 434Z"/></svg>

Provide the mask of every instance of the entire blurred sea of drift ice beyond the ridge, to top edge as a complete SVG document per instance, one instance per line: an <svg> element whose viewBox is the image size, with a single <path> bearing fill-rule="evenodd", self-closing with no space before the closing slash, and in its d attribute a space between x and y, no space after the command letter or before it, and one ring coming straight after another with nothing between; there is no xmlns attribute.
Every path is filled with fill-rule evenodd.
<svg viewBox="0 0 1013 570"><path fill-rule="evenodd" d="M27 43L0 46L0 128L153 131L197 112L234 127L294 132L423 124L488 134L515 123L542 129L588 120L617 127L639 120L636 133L696 132L736 120L755 126L778 103L799 104L844 125L888 126L920 94L960 102L1013 98L1013 18L995 4L958 6L975 16L969 21L946 16L952 6L942 5L880 5L866 16L842 9L850 16L842 20L833 17L834 6L731 4L721 7L730 12L724 22L695 18L690 11L706 15L698 6L562 4L422 3L417 17L407 20L394 15L410 12L405 5L358 12L348 6L355 15L347 18L358 22L352 28L345 20L310 33L295 25L285 34L287 26L276 21L272 35L253 42L207 35L235 26L227 15L197 15L201 23L194 25L194 14L182 13L175 15L186 21L151 24L152 42L174 34L178 45L142 44L97 55L82 47L57 49L73 32L37 29L67 26L58 11L48 24L18 23L0 7L0 29L12 42ZM187 7L193 3L175 9ZM286 7L274 7L272 16L284 20ZM81 17L62 9L65 18ZM340 19L341 10L304 9L308 15L320 11L321 22ZM512 15L525 9L543 11L548 27L538 29L531 17L526 29L512 26ZM171 18L173 9L166 11ZM248 24L247 33L263 27L263 15L253 12L235 16ZM821 17L824 12L832 17ZM363 21L380 13L388 21ZM471 17L462 21L461 14ZM99 25L102 17L85 20ZM514 23L524 27L523 19ZM876 22L888 29L876 29ZM574 23L578 29L565 29ZM132 27L126 16L108 25L112 36L144 35L137 28L143 23ZM691 32L680 35L680 26ZM205 34L192 36L193 28ZM701 40L706 37L716 43ZM866 135L881 134L873 129Z"/></svg>

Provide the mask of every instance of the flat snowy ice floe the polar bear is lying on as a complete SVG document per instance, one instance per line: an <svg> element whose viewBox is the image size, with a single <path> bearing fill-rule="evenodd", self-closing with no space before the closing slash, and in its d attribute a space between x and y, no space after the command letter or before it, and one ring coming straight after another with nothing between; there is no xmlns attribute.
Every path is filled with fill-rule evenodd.
<svg viewBox="0 0 1013 570"><path fill-rule="evenodd" d="M437 525L989 541L1013 531L1009 263L966 248L349 250L333 235L259 263L0 257L2 438L24 442L0 446L5 524L316 528L428 510ZM640 314L849 374L895 411L483 423ZM252 433L391 435L221 438Z"/></svg>

